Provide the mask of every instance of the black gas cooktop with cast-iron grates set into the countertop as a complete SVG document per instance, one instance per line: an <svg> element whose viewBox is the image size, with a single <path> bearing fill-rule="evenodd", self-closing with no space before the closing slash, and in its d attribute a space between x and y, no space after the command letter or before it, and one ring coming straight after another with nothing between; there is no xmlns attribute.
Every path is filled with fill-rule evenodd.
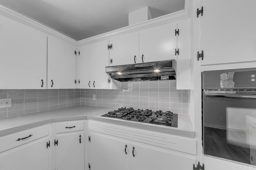
<svg viewBox="0 0 256 170"><path fill-rule="evenodd" d="M114 119L122 119L127 121L151 123L156 125L164 125L169 127L178 127L178 114L171 111L152 111L122 107L120 109L108 112L102 117L110 117Z"/></svg>

